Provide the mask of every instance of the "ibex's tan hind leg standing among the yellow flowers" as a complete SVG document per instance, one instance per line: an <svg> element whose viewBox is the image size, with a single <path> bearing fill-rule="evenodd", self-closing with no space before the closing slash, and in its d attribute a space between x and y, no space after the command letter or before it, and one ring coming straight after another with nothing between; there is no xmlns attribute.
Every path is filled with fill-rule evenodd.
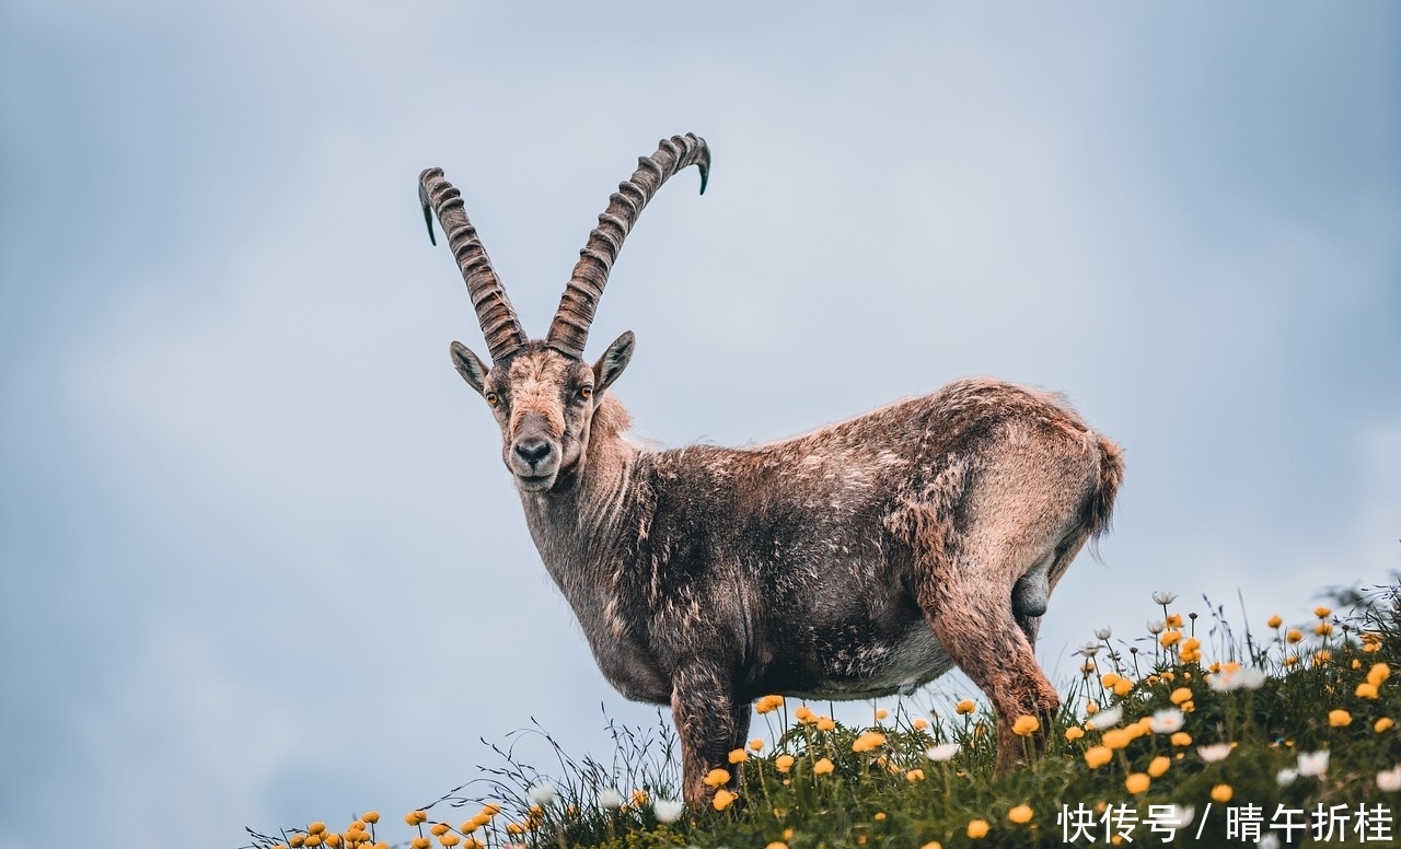
<svg viewBox="0 0 1401 849"><path fill-rule="evenodd" d="M919 584L919 605L939 643L992 700L999 775L1044 745L1045 730L1061 708L1061 696L1037 664L1031 640L1013 614L1012 581L992 579L1007 569L982 559L1007 556L962 552L944 563L926 563ZM1037 717L1041 729L1019 737L1012 729L1021 716Z"/></svg>

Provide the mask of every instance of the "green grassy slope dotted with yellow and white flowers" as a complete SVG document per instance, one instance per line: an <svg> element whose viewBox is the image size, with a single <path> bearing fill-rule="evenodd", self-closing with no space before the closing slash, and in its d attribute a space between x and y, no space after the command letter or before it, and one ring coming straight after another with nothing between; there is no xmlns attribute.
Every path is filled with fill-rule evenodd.
<svg viewBox="0 0 1401 849"><path fill-rule="evenodd" d="M1401 727L1390 724L1401 722L1401 674L1383 674L1388 668L1401 672L1401 586L1341 600L1345 612L1320 609L1314 619L1293 628L1255 623L1257 629L1237 635L1220 608L1206 605L1202 615L1182 608L1182 625L1167 628L1167 633L1178 633L1170 646L1163 643L1174 637L1164 640L1166 633L1146 630L1128 640L1118 635L1096 640L1077 656L1084 661L1077 678L1062 689L1065 706L1049 729L1045 751L1000 779L992 776L995 734L985 710L967 712L968 705L965 712L953 706L916 710L909 699L901 699L881 719L873 709L870 726L848 727L820 724L825 717L817 709L825 705L790 699L755 723L762 751L748 751L730 766L737 799L724 810L686 808L672 822L658 821L654 803L679 796L678 747L665 722L651 729L609 723L615 741L609 762L576 761L532 729L506 747L493 747L499 765L427 806L422 824L405 825L395 815L389 822L366 822L361 829L333 835L321 831L310 836L317 831L310 825L277 836L251 832L251 846L367 849L412 846L415 839L419 846L565 849L1063 846L1066 831L1058 815L1068 811L1073 817L1070 835L1073 824L1089 825L1069 845L1103 846L1105 835L1117 831L1133 838L1122 845L1254 845L1238 836L1227 841L1227 808L1234 808L1245 836L1252 820L1258 820L1258 834L1281 839L1289 832L1271 829L1272 824L1306 825L1283 845L1401 845L1401 794L1379 786L1379 773L1401 764ZM1168 602L1147 612L1170 619L1180 608ZM1292 642L1290 630L1302 639ZM1222 688L1219 670L1229 674L1236 664L1245 672L1237 679L1247 686ZM1374 693L1365 686L1369 675ZM1124 679L1118 692L1115 677ZM1174 708L1189 710L1175 741L1168 733L1133 731L1145 717ZM1097 715L1087 713L1094 709ZM1086 727L1087 720L1115 712L1119 719L1108 727ZM544 741L553 754L549 768L516 757L516 745L531 738ZM853 751L857 740L874 745ZM957 754L947 761L926 757L940 744L957 744ZM1216 745L1229 754L1212 759L1210 747ZM1328 752L1323 775L1281 780L1282 771L1299 771L1302 755L1321 751ZM1103 755L1105 762L1091 766L1087 752ZM789 758L792 765L785 769ZM831 762L831 772L818 769L822 759ZM1138 776L1135 792L1126 783L1129 776ZM545 783L555 792L537 806L531 790L541 800ZM611 789L621 793L622 804L602 807L600 799ZM1230 799L1223 801L1227 790ZM479 814L489 803L500 810ZM1021 806L1030 808L1030 818L1014 822L1009 813ZM1153 806L1180 806L1174 813L1191 807L1194 817L1163 843L1167 832L1150 828ZM1359 835L1359 808L1370 815L1365 820L1377 820L1388 829ZM1311 824L1320 813L1335 820L1331 841L1316 839L1321 835ZM475 828L474 815L479 822ZM978 821L986 825L981 838ZM439 822L448 831L434 835L430 829ZM1346 828L1344 835L1339 824ZM1393 838L1384 839L1384 831ZM346 839L360 834L364 841Z"/></svg>

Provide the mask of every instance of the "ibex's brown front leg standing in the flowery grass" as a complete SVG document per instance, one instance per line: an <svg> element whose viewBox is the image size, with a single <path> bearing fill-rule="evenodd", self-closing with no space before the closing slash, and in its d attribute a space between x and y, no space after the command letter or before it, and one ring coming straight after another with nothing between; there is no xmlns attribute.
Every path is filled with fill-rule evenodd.
<svg viewBox="0 0 1401 849"><path fill-rule="evenodd" d="M671 681L671 715L681 737L682 794L699 808L710 799L705 776L730 766L729 754L744 745L750 733L750 705L737 702L730 677L705 665L688 665Z"/></svg>

